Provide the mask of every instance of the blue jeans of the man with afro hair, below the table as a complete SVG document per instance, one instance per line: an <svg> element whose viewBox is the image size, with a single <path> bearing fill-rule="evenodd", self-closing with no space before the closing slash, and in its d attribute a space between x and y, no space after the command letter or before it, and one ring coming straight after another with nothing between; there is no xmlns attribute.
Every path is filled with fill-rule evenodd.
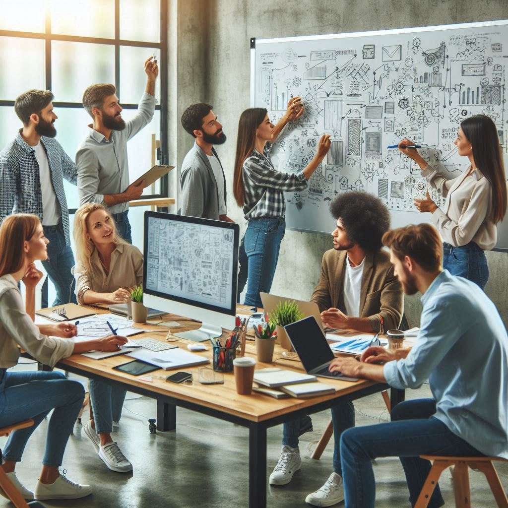
<svg viewBox="0 0 508 508"><path fill-rule="evenodd" d="M335 448L333 450L333 470L342 476L340 464L340 436L345 430L355 426L355 406L353 402L339 402L332 407L333 438ZM300 418L284 422L282 427L282 444L296 448L300 433Z"/></svg>

